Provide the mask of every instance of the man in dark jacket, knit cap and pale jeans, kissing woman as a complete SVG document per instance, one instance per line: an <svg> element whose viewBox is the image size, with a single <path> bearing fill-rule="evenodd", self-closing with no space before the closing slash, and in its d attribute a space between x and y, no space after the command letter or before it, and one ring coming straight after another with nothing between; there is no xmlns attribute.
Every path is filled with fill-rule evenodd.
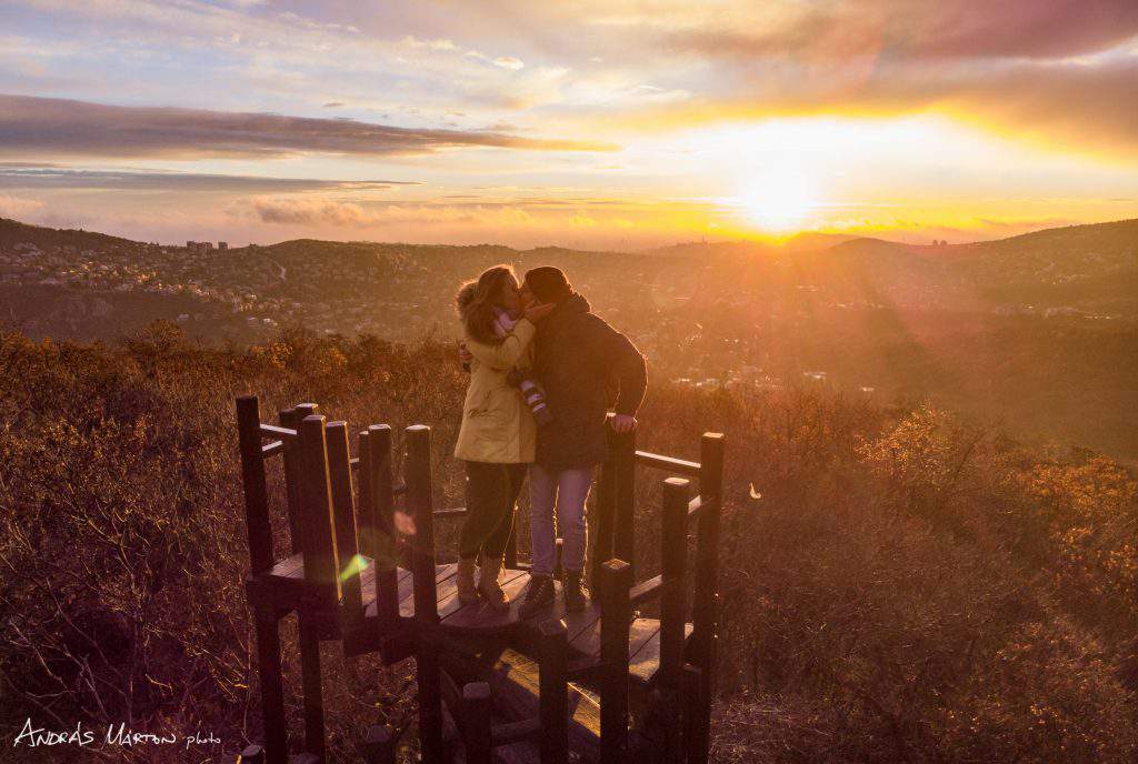
<svg viewBox="0 0 1138 764"><path fill-rule="evenodd" d="M585 501L596 465L607 457L610 382L618 384L612 427L630 432L644 400L648 369L636 346L593 314L559 268L529 271L523 290L554 306L535 339L534 372L545 388L553 421L538 429L529 468L531 583L520 608L528 617L554 599L554 512L563 539L566 609L585 608Z"/></svg>

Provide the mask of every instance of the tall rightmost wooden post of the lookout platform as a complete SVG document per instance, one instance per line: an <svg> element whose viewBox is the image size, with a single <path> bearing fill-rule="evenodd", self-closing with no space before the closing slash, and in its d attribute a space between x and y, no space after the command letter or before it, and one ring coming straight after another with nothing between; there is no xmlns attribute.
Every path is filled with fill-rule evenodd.
<svg viewBox="0 0 1138 764"><path fill-rule="evenodd" d="M693 731L694 746L700 761L707 761L711 741L711 697L715 678L716 640L718 631L719 589L719 518L723 512L724 437L706 432L700 440L700 514L699 537L695 547L695 595L692 614L693 657L700 670L700 698L702 711Z"/></svg>

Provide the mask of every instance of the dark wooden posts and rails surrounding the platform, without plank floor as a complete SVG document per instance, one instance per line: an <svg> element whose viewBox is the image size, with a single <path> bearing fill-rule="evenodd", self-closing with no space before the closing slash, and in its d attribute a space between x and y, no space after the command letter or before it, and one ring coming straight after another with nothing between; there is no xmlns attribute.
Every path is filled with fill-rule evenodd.
<svg viewBox="0 0 1138 764"><path fill-rule="evenodd" d="M464 507L438 508L431 485L431 431L405 431L403 482L396 482L393 431L371 425L357 434L351 452L348 425L329 422L315 404L279 412L278 424L261 422L256 398L237 400L245 489L250 575L246 583L255 616L257 663L264 719L264 748L251 747L239 761L284 764L288 734L283 705L280 622L295 612L304 692L304 750L292 762L325 758L320 642L339 640L346 655L379 653L385 662L417 658L420 749L423 761L448 761L447 708L461 709L456 726L468 762L489 762L494 749L511 741L539 741L543 763L568 758L567 687L587 670L601 696L599 751L602 762L628 761L629 628L634 608L659 598L659 671L655 687L666 698L666 740L660 761L708 761L709 700L714 674L717 612L717 547L723 490L723 435L707 433L700 460L636 450L635 433L610 430L609 458L601 468L591 531L592 583L600 604L600 656L595 665L570 661L566 624L537 624L539 711L521 722L494 724L489 689L480 682L461 690L442 667L445 656L464 646L439 628L434 523L459 518ZM275 559L269 512L265 462L281 457L291 556ZM661 560L658 575L635 581L633 548L637 467L670 475L663 481ZM699 485L691 496L691 479ZM415 534L401 540L396 498L414 521ZM695 522L695 554L687 560L690 521ZM595 525L595 528L594 528ZM511 543L508 566L525 566ZM410 570L414 616L399 613L401 550ZM364 596L366 571L374 591ZM405 573L404 573L405 575ZM685 637L688 582L693 584L692 633ZM371 603L369 606L368 603ZM371 608L371 609L369 609ZM587 663L587 662L586 662ZM585 674L582 674L585 675ZM453 722L451 726L455 726ZM369 728L368 762L394 762L390 730Z"/></svg>

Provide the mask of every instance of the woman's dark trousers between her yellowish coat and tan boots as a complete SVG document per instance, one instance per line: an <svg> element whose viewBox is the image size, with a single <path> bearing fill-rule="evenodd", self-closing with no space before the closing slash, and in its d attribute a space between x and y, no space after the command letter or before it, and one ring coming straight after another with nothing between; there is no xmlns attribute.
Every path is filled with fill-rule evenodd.
<svg viewBox="0 0 1138 764"><path fill-rule="evenodd" d="M467 462L467 520L459 537L459 556L483 553L486 559L502 558L528 466Z"/></svg>

